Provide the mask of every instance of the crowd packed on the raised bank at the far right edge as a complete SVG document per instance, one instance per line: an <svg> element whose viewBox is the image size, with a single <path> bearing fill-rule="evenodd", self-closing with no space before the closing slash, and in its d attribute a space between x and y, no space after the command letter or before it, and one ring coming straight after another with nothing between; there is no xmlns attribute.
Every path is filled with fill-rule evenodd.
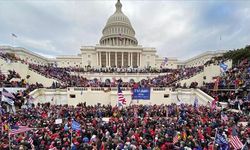
<svg viewBox="0 0 250 150"><path fill-rule="evenodd" d="M242 60L215 77L215 81L201 87L207 94L227 103L230 108L250 113L250 63Z"/></svg>

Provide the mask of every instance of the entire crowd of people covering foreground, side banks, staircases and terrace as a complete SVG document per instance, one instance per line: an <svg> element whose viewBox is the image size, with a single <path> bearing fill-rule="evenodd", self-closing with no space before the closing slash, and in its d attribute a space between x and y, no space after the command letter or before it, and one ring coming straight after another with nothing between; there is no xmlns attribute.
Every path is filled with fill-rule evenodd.
<svg viewBox="0 0 250 150"><path fill-rule="evenodd" d="M88 80L73 73L84 72L81 68L30 64L9 53L0 53L0 57L6 62L26 63L33 71L56 79L58 82L53 83L50 88L117 87L118 84L129 88L178 87L178 81L190 78L204 69L204 66L160 70L88 68L87 71L90 73L165 73L152 79L143 79L138 83L133 80L122 82L121 79L101 81ZM25 100L30 99L28 94L36 88L42 88L43 85L28 84L14 70L9 70L7 75L0 72L0 86L26 88L24 91L13 93L15 106L18 108L16 113L6 112L8 104L1 102L1 150L227 150L235 149L231 139L235 136L244 144L244 148L250 146L248 61L222 72L220 77L215 78L215 82L204 83L200 87L214 97L214 101L227 103L227 107L220 103L217 103L219 107L211 107L213 104L199 106L197 102L195 106L130 105L122 108L110 105L86 106L86 103L76 107L45 103L22 108ZM182 87L198 86L201 85L194 81L190 87ZM61 122L58 122L58 119ZM77 128L74 127L76 123L79 125ZM22 132L19 132L21 129Z"/></svg>

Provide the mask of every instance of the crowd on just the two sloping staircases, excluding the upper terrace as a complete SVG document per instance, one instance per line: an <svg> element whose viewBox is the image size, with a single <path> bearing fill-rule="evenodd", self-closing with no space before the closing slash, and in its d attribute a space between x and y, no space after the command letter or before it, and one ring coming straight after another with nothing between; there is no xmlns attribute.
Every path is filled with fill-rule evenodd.
<svg viewBox="0 0 250 150"><path fill-rule="evenodd" d="M29 67L36 70L40 74L46 77L55 78L65 83L67 86L81 86L81 87L110 87L117 86L117 84L107 83L105 81L88 80L79 75L72 75L70 68L58 68L54 66L39 66L35 64L30 64ZM134 84L139 84L140 86L150 86L150 87L168 87L175 84L181 79L186 79L194 76L195 74L203 70L203 66L191 67L191 68L181 68L181 69L166 69L165 75L159 75L153 79L143 79L139 83L124 83L124 86L132 87Z"/></svg>

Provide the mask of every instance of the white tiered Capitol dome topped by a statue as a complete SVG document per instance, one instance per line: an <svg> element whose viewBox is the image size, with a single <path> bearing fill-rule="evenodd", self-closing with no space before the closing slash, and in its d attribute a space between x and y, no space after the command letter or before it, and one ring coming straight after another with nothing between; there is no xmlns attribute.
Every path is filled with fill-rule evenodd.
<svg viewBox="0 0 250 150"><path fill-rule="evenodd" d="M120 0L116 3L115 13L109 17L106 26L102 31L100 45L110 46L136 46L135 31L128 19L122 12Z"/></svg>

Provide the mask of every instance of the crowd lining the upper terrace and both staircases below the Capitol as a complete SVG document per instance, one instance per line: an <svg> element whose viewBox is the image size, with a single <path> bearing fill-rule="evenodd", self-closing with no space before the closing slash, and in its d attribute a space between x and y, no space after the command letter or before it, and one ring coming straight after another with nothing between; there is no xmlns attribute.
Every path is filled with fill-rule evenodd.
<svg viewBox="0 0 250 150"><path fill-rule="evenodd" d="M20 61L21 63L27 63L24 60L21 60L20 58L15 57L15 55L11 55L9 53L0 53L1 58L10 61ZM116 83L106 82L106 81L100 81L98 79L95 80L88 80L84 78L81 75L75 75L73 73L75 72L86 72L84 71L84 68L60 68L56 67L55 65L37 65L37 64L31 64L27 63L29 65L29 68L33 71L36 71L37 73L48 77L48 78L54 78L58 82L61 83L61 87L67 87L67 86L77 86L77 87L110 87L110 86L117 86ZM157 86L173 86L173 84L176 84L177 81L181 79L190 78L197 73L201 72L204 69L203 66L198 67L191 67L191 68L180 68L180 69L154 69L154 68L98 68L93 69L90 68L87 71L89 73L93 72L102 72L102 73L165 73L165 75L159 75L156 78L153 79L144 79L136 84L140 86L150 86L150 87L157 87ZM134 83L124 83L123 86L129 86L133 87Z"/></svg>

